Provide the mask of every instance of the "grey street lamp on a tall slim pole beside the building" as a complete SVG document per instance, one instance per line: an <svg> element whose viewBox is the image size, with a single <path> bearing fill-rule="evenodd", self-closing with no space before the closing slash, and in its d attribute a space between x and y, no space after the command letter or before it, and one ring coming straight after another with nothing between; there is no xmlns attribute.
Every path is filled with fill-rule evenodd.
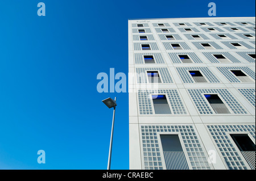
<svg viewBox="0 0 256 181"><path fill-rule="evenodd" d="M115 100L117 98L115 97ZM102 102L108 106L108 108L114 107L114 112L113 112L113 121L112 121L112 130L111 130L111 137L110 137L110 146L109 146L109 161L108 161L108 170L110 170L110 164L111 164L111 154L112 154L112 142L113 142L113 132L114 132L114 121L115 121L115 106L117 106L117 103L115 100L108 98L102 100Z"/></svg>

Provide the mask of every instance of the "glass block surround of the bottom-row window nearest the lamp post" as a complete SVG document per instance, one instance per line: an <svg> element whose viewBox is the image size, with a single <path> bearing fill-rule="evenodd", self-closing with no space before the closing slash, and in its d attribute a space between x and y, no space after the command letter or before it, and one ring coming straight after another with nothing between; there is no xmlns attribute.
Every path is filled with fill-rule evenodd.
<svg viewBox="0 0 256 181"><path fill-rule="evenodd" d="M188 156L193 170L211 170L208 154L201 143L200 137L193 125L141 125L142 162L146 170L164 169L161 158L158 133L180 133L184 143L184 153ZM163 156L163 155L162 155Z"/></svg>

